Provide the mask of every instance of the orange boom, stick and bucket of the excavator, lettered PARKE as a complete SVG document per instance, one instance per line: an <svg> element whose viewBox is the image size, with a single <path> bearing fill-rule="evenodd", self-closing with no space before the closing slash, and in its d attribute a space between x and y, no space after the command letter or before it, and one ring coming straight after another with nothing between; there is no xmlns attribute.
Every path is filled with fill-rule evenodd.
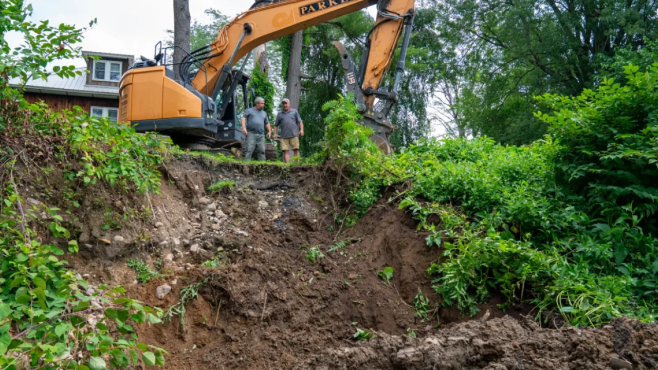
<svg viewBox="0 0 658 370"><path fill-rule="evenodd" d="M199 92L208 92L215 101L226 101L228 95L233 93L232 88L225 88L233 66L255 47L370 5L377 5L378 16L368 35L360 67L355 66L342 44L334 45L338 47L343 59L348 89L355 93L359 113L364 117L361 123L373 128L375 134L372 140L389 152L388 136L394 128L387 116L397 101L397 84L404 70L415 0L274 0L261 3L266 4L240 14L219 30L211 45L193 52L194 57L203 60L204 72L197 73L193 80L186 82L191 83ZM405 26L395 86L391 92L380 91ZM190 68L191 59L188 63L183 63L182 72ZM185 79L185 74L183 76ZM377 99L382 101L382 104L378 104L380 109L375 109Z"/></svg>

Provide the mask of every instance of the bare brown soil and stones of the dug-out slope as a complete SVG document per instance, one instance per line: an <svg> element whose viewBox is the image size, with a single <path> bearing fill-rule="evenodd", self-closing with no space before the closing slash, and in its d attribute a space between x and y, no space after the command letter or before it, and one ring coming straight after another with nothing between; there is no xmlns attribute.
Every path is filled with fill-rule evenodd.
<svg viewBox="0 0 658 370"><path fill-rule="evenodd" d="M334 225L332 191L318 169L197 158L162 170L162 192L150 199L102 186L81 195L71 217L83 247L70 263L95 286L124 285L131 298L164 310L180 289L209 281L188 305L185 327L176 317L138 328L140 340L168 351L166 369L658 369L658 327L633 320L541 329L528 307L501 311L499 297L474 318L438 308L418 319L418 290L438 303L426 269L441 251L428 249L415 221L384 201L349 230ZM238 188L206 194L220 178ZM57 205L61 186L49 187L55 195L38 200ZM152 221L139 213L147 204ZM137 212L103 230L108 209ZM325 257L308 261L311 247ZM167 277L139 284L129 257L151 266L162 259ZM201 266L214 258L218 267ZM378 277L387 266L390 286ZM172 292L159 300L163 284ZM353 340L357 327L376 337Z"/></svg>

